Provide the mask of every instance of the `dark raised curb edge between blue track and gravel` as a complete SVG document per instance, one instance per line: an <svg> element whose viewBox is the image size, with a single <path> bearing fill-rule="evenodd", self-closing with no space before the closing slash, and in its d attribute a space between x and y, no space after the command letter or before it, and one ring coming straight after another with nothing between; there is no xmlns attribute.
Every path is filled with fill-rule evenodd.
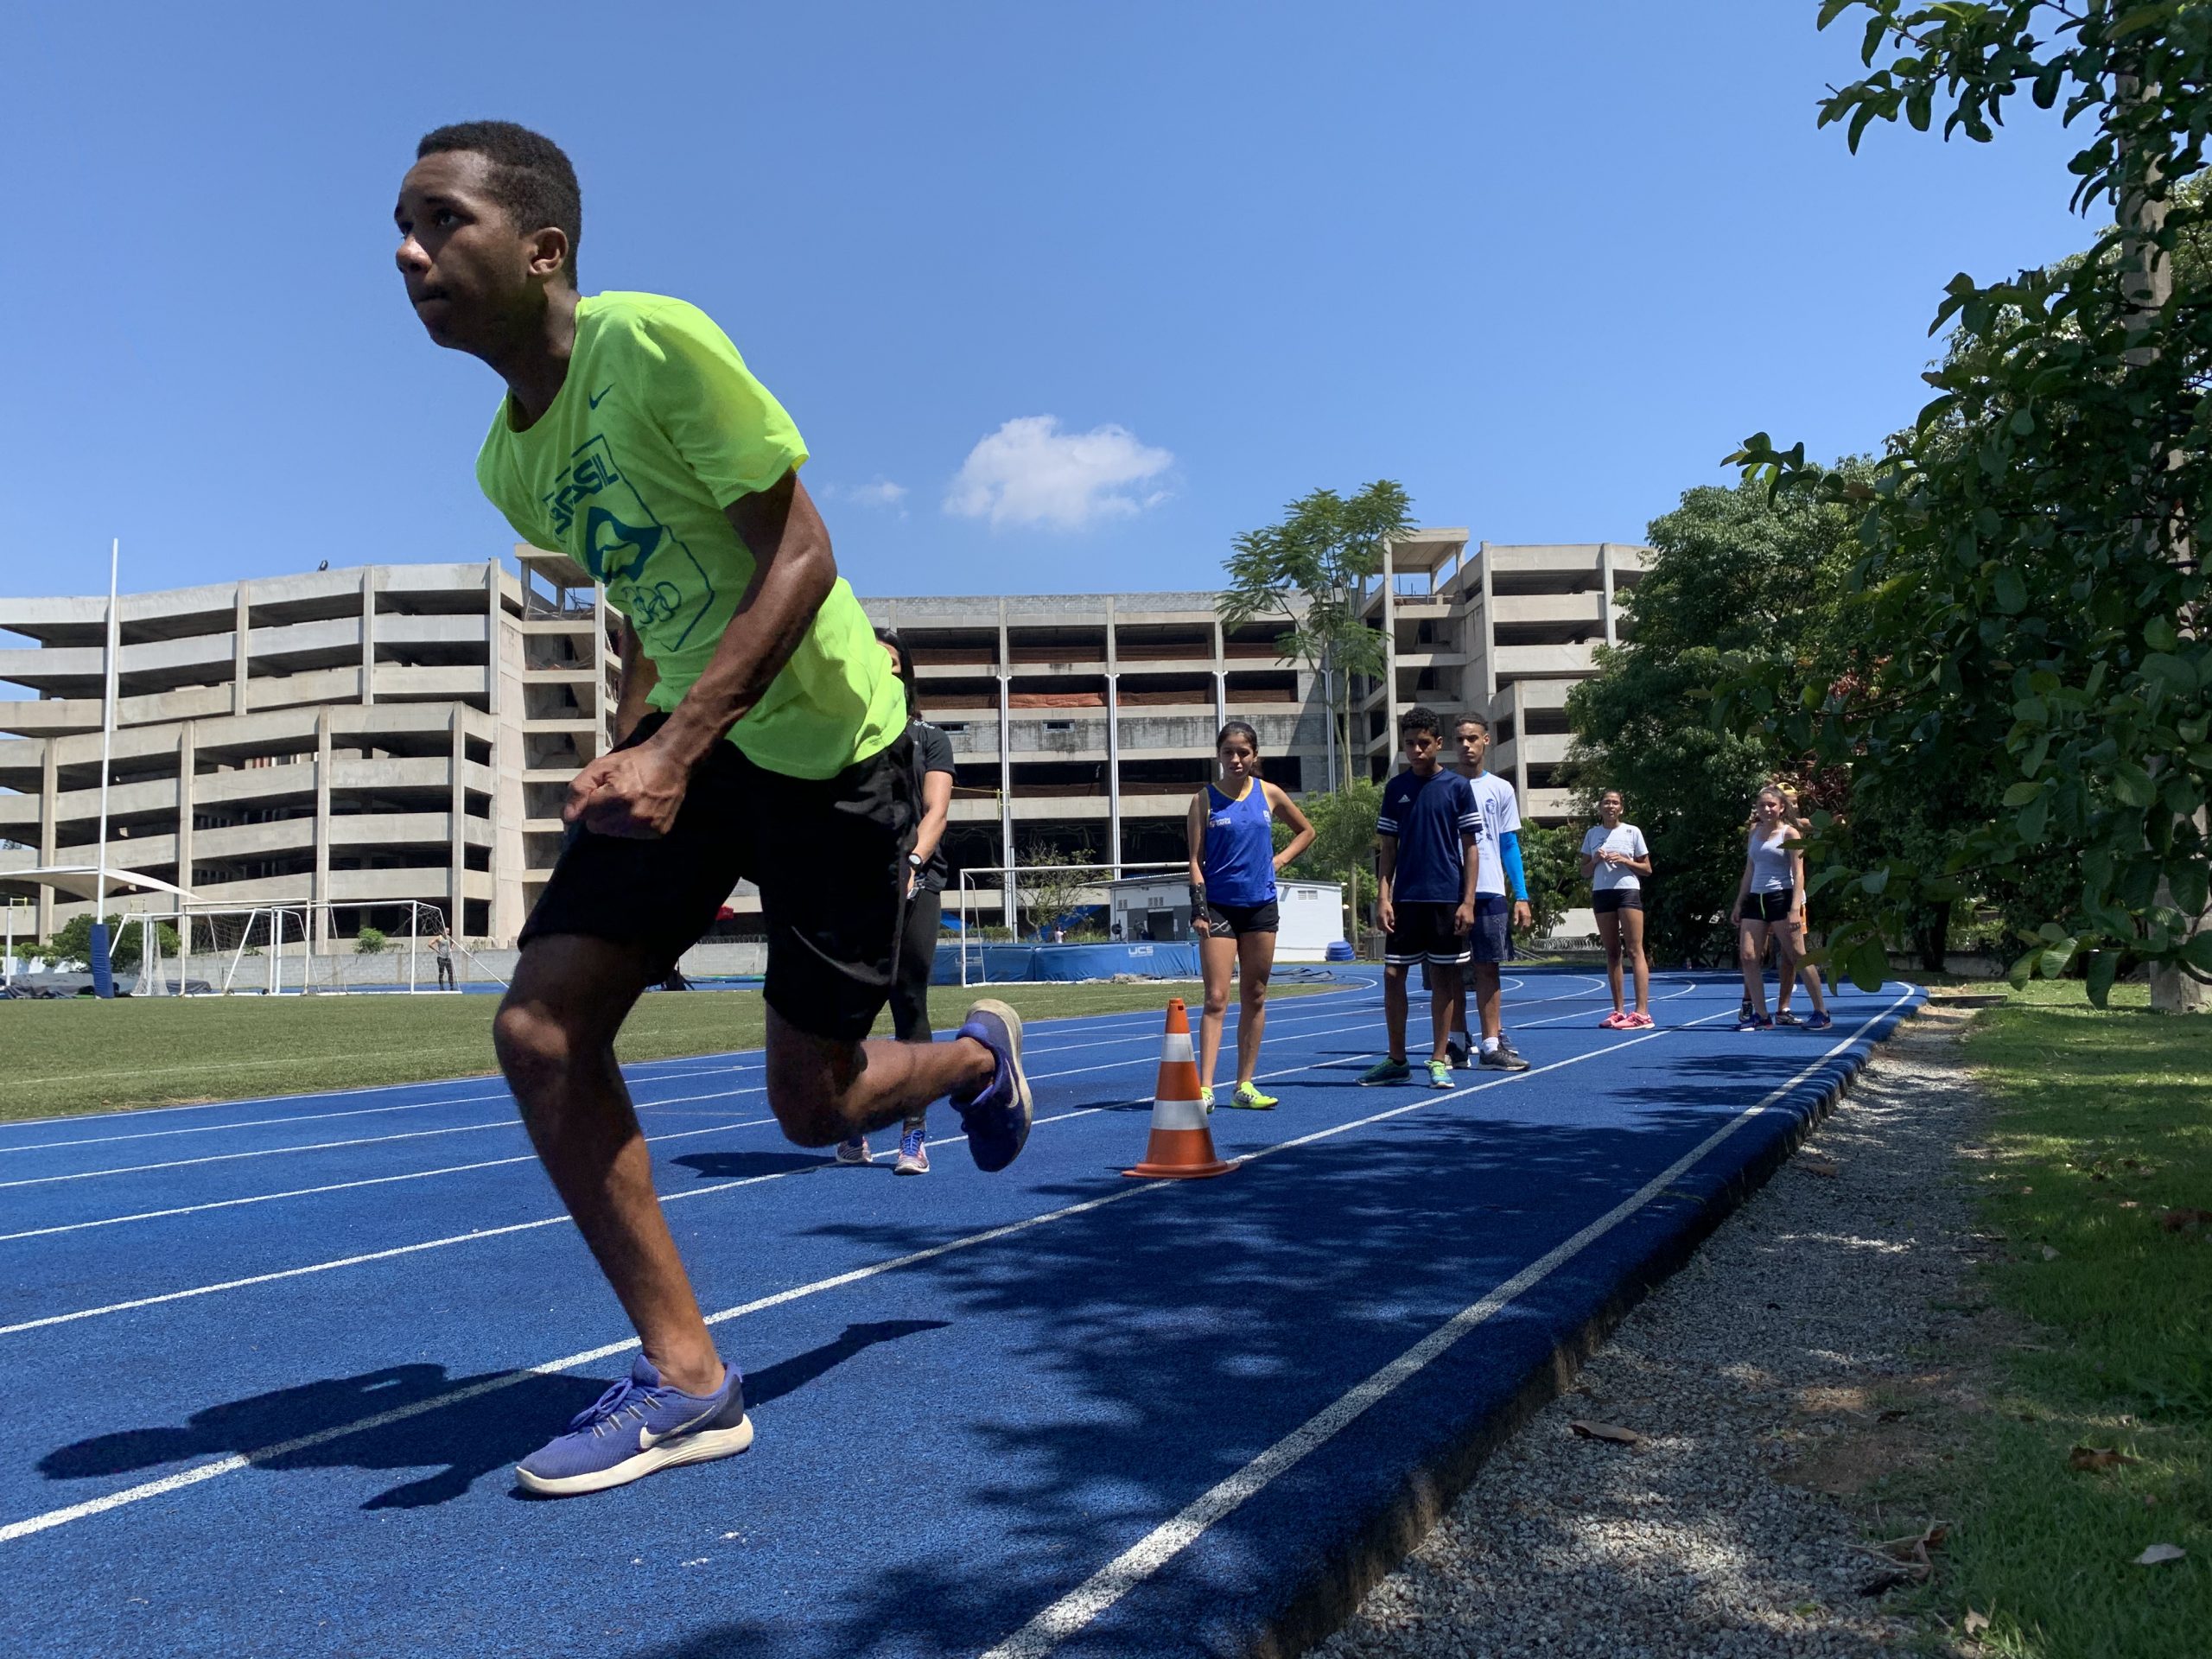
<svg viewBox="0 0 2212 1659"><path fill-rule="evenodd" d="M1805 1104L1792 1102L1790 1128L1772 1137L1750 1159L1745 1159L1694 1212L1655 1243L1655 1248L1628 1265L1613 1292L1579 1325L1564 1329L1542 1360L1520 1378L1513 1391L1493 1411L1469 1420L1462 1431L1436 1455L1416 1464L1398 1482L1398 1489L1352 1533L1329 1548L1303 1584L1267 1615L1256 1630L1237 1644L1234 1652L1248 1659L1294 1659L1310 1652L1345 1619L1349 1619L1367 1593L1389 1577L1413 1548L1442 1522L1475 1475L1520 1429L1546 1405L1559 1398L1582 1371L1584 1360L1619 1327L1628 1314L1661 1283L1672 1279L1723 1221L1741 1210L1774 1172L1787 1164L1812 1137L1836 1104L1851 1091L1858 1075L1874 1060L1880 1044L1896 1035L1898 1026L1916 1018L1927 1006L1922 995L1896 1011L1896 1018L1869 1035L1858 1053L1838 1055L1836 1064L1818 1079L1809 1079L1820 1093Z"/></svg>

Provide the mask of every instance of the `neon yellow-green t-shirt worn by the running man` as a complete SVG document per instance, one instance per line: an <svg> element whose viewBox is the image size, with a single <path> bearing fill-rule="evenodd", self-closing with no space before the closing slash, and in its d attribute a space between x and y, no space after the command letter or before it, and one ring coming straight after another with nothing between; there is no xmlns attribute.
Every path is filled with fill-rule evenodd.
<svg viewBox="0 0 2212 1659"><path fill-rule="evenodd" d="M805 462L799 427L706 312L659 294L580 299L553 407L526 431L513 418L502 398L476 482L524 542L606 586L659 670L648 701L672 710L752 582L723 509ZM827 779L905 728L898 677L838 577L730 741L772 772Z"/></svg>

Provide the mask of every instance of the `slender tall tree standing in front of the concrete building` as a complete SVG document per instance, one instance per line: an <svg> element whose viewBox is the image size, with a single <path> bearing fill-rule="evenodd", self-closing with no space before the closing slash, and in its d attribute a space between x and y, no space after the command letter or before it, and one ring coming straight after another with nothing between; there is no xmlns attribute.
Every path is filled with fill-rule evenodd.
<svg viewBox="0 0 2212 1659"><path fill-rule="evenodd" d="M1316 489L1276 524L1243 531L1228 557L1230 584L1217 602L1228 626L1281 622L1276 650L1334 675L1338 754L1352 770L1352 677L1380 679L1383 635L1367 626L1363 593L1383 568L1383 544L1413 526L1413 502L1389 478L1356 495Z"/></svg>

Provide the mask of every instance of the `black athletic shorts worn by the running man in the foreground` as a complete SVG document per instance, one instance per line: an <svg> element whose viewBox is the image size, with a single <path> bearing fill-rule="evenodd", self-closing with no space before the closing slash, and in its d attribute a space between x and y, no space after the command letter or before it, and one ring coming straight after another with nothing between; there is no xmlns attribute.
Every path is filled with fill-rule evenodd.
<svg viewBox="0 0 2212 1659"><path fill-rule="evenodd" d="M666 719L646 714L615 748ZM657 984L750 880L768 922L768 1006L816 1037L856 1042L891 993L918 816L907 737L832 779L770 772L717 743L666 836L568 825L522 945L551 933L644 945L646 984Z"/></svg>

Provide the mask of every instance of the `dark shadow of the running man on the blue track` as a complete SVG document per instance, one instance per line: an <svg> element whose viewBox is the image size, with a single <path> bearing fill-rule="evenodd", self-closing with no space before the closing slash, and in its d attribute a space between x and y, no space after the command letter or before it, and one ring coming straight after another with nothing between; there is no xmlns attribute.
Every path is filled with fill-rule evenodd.
<svg viewBox="0 0 2212 1659"><path fill-rule="evenodd" d="M876 1343L942 1329L947 1321L898 1318L847 1325L843 1336L745 1378L748 1405L783 1398ZM369 1498L363 1509L427 1509L462 1498L482 1475L526 1458L568 1418L599 1398L602 1383L577 1376L522 1376L471 1400L429 1407L513 1371L447 1376L442 1365L392 1365L361 1376L305 1383L195 1411L181 1425L124 1429L49 1451L38 1460L46 1480L97 1480L161 1464L197 1462L285 1447L303 1436L341 1429L407 1407L422 1411L334 1436L296 1451L263 1453L259 1469L436 1469Z"/></svg>

